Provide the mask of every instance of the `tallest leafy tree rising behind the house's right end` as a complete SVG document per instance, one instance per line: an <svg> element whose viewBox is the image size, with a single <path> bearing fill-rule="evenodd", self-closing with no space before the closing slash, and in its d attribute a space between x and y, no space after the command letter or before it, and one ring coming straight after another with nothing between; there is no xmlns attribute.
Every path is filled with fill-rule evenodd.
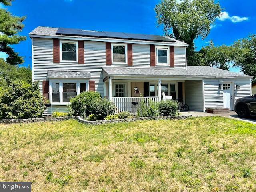
<svg viewBox="0 0 256 192"><path fill-rule="evenodd" d="M199 36L206 38L221 10L220 4L214 3L214 0L183 0L180 3L176 0L161 0L155 7L158 26L164 25L165 34L189 44L188 65L197 65L192 60L194 39Z"/></svg>

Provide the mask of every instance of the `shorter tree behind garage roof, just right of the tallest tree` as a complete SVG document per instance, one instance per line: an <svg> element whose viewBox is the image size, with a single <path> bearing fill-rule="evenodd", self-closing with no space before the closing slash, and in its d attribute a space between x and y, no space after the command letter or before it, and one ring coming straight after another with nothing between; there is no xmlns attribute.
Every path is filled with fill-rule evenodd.
<svg viewBox="0 0 256 192"><path fill-rule="evenodd" d="M230 63L234 60L235 51L233 46L214 46L210 41L210 45L202 48L198 54L200 54L201 65L228 70Z"/></svg>

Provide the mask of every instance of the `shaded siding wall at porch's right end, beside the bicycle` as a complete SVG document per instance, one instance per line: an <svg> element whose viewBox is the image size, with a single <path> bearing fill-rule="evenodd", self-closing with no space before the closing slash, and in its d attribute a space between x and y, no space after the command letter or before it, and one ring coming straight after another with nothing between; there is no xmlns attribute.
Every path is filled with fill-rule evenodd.
<svg viewBox="0 0 256 192"><path fill-rule="evenodd" d="M185 81L185 101L190 111L203 111L202 80Z"/></svg>

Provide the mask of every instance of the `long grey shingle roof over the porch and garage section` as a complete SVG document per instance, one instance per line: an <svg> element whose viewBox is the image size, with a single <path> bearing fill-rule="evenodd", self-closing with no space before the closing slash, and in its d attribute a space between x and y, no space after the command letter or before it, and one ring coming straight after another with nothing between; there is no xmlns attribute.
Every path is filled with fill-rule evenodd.
<svg viewBox="0 0 256 192"><path fill-rule="evenodd" d="M213 68L209 66L187 66L182 68L137 68L137 67L103 67L108 76L196 76L196 77L238 77L251 76Z"/></svg>

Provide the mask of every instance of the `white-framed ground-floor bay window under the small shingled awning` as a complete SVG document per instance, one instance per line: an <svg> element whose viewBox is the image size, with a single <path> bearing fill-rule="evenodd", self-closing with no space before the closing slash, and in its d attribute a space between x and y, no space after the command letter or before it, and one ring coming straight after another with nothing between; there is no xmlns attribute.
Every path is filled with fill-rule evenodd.
<svg viewBox="0 0 256 192"><path fill-rule="evenodd" d="M50 81L50 102L52 104L66 104L71 98L89 90L88 80L86 82L75 81Z"/></svg>

